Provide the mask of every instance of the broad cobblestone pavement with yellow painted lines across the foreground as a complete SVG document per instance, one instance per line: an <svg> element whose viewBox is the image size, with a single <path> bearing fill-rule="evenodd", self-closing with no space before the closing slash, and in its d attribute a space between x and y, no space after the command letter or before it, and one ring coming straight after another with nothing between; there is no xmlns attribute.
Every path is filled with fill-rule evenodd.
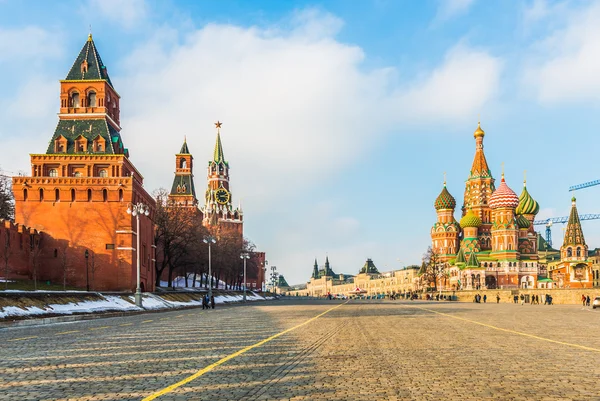
<svg viewBox="0 0 600 401"><path fill-rule="evenodd" d="M0 400L600 400L600 311L284 300L0 330ZM295 327L219 364L219 360Z"/></svg>

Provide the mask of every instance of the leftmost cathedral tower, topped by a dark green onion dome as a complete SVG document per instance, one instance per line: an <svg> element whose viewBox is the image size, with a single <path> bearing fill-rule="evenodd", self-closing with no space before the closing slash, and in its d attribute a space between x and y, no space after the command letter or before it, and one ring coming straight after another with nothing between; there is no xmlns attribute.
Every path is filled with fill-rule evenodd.
<svg viewBox="0 0 600 401"><path fill-rule="evenodd" d="M444 188L434 202L437 213L437 222L431 228L431 241L434 252L438 255L440 262L447 262L456 256L459 246L460 226L454 219L456 200L446 188Z"/></svg>

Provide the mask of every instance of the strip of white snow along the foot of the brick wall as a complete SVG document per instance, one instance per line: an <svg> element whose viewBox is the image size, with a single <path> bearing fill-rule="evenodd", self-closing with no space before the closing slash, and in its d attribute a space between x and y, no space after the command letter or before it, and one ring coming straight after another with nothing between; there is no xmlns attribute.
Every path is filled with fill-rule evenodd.
<svg viewBox="0 0 600 401"><path fill-rule="evenodd" d="M45 292L45 291L44 291ZM17 306L5 306L0 308L0 319L18 317L18 316L40 316L40 315L71 315L73 313L94 313L94 312L125 312L139 310L157 310L157 309L172 309L183 306L199 306L202 305L201 300L191 299L187 302L169 301L160 295L144 294L143 309L135 306L134 296L117 296L117 295L102 295L95 293L102 299L85 300L81 302L69 302L66 304L49 304L41 308L38 306L29 306L20 308ZM128 300L129 301L128 301ZM248 301L264 301L272 299L272 297L263 297L259 294L248 291L246 295ZM216 295L215 303L231 303L241 302L242 295Z"/></svg>

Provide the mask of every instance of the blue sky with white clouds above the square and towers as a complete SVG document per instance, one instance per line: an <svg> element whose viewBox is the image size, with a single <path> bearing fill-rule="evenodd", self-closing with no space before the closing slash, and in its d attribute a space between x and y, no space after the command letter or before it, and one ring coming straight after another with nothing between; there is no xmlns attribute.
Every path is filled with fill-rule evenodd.
<svg viewBox="0 0 600 401"><path fill-rule="evenodd" d="M148 191L186 136L202 197L220 120L245 235L290 284L326 256L395 270L431 243L444 172L462 204L479 119L493 176L519 194L527 171L538 218L573 194L600 213L600 186L568 191L600 179L599 20L600 1L0 0L0 168L47 148L91 26ZM599 247L600 220L583 228Z"/></svg>

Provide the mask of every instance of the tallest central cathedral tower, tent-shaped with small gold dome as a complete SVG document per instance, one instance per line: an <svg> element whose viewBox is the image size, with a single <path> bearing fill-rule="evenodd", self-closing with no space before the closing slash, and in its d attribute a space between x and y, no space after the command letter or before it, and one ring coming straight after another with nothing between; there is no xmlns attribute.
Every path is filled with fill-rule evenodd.
<svg viewBox="0 0 600 401"><path fill-rule="evenodd" d="M494 178L488 167L485 154L483 152L483 138L485 132L481 129L481 124L477 124L477 129L473 133L475 137L475 158L471 167L471 173L465 185L465 199L462 207L463 216L468 210L481 219L481 226L478 229L478 242L481 250L491 249L491 210L489 199L496 189Z"/></svg>

